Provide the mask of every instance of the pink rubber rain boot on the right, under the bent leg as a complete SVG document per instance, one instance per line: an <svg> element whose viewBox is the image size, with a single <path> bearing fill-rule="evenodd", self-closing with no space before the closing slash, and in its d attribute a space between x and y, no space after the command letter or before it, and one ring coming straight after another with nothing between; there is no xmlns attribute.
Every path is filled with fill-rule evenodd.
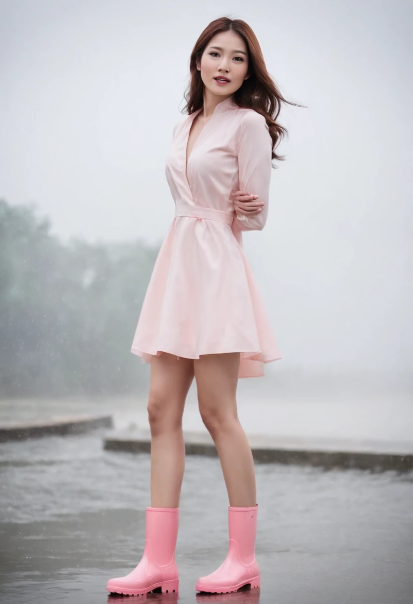
<svg viewBox="0 0 413 604"><path fill-rule="evenodd" d="M257 512L258 506L228 507L228 554L214 573L198 579L196 591L228 593L246 585L251 589L260 586L260 569L255 560Z"/></svg>

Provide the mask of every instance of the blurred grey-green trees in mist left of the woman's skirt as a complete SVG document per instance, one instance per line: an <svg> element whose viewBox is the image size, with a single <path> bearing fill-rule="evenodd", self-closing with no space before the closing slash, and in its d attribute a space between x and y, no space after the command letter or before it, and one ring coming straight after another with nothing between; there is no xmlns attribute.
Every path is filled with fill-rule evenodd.
<svg viewBox="0 0 413 604"><path fill-rule="evenodd" d="M0 199L0 396L138 391L130 345L159 248L63 245L50 226Z"/></svg>

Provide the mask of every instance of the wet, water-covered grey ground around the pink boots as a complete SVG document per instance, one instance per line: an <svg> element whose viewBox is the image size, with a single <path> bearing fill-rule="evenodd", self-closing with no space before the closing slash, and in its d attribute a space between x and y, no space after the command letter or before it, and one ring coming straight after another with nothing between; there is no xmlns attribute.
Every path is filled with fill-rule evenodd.
<svg viewBox="0 0 413 604"><path fill-rule="evenodd" d="M106 581L138 564L148 454L104 451L105 432L0 445L0 602L126 601ZM199 596L228 544L219 460L188 457L178 597L127 602L411 604L413 475L257 464L261 589Z"/></svg>

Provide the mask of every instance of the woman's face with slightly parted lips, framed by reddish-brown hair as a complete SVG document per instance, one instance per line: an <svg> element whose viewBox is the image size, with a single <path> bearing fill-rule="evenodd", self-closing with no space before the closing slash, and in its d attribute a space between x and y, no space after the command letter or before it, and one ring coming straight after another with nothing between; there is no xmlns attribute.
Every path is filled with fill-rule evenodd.
<svg viewBox="0 0 413 604"><path fill-rule="evenodd" d="M234 31L221 31L212 37L203 51L197 69L205 87L217 96L234 94L248 72L248 48ZM219 80L222 78L225 82Z"/></svg>

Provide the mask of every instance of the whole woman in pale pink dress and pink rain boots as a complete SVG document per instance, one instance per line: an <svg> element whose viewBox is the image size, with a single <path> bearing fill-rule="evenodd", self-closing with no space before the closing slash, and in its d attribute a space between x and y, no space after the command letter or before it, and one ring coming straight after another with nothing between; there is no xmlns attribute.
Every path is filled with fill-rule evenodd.
<svg viewBox="0 0 413 604"><path fill-rule="evenodd" d="M239 377L280 359L242 248L267 220L272 159L286 133L284 100L244 21L216 19L191 54L188 116L173 130L166 176L175 216L156 259L132 352L150 362L151 506L138 566L107 591L178 592L174 552L184 477L182 415L196 379L199 411L220 457L229 498L229 550L196 590L260 585L255 560L254 461L237 417ZM290 103L295 104L295 103Z"/></svg>

